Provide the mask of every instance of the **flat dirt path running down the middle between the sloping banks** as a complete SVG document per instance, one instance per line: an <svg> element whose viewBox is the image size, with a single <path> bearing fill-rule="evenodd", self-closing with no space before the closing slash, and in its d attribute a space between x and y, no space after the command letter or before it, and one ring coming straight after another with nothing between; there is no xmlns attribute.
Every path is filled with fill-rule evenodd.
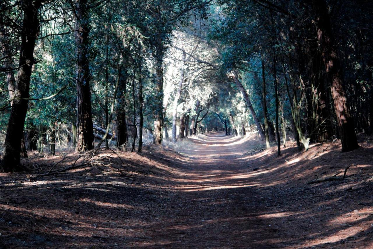
<svg viewBox="0 0 373 249"><path fill-rule="evenodd" d="M160 207L148 246L166 248L272 248L276 236L265 213L266 197L250 178L239 138L209 133L184 148L190 164L172 188L176 194ZM164 212L165 211L165 212ZM264 241L263 239L266 239Z"/></svg>

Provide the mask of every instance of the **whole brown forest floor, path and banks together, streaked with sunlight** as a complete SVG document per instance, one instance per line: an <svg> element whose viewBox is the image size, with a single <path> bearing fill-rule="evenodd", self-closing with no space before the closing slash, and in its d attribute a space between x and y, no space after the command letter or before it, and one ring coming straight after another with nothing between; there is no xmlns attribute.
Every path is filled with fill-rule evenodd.
<svg viewBox="0 0 373 249"><path fill-rule="evenodd" d="M256 145L210 133L181 154L123 153L151 169L132 176L2 174L0 248L373 247L373 185L362 180L370 163L343 182L307 185L357 158L328 145L311 148L317 156L294 147L248 154ZM369 161L372 148L354 155Z"/></svg>

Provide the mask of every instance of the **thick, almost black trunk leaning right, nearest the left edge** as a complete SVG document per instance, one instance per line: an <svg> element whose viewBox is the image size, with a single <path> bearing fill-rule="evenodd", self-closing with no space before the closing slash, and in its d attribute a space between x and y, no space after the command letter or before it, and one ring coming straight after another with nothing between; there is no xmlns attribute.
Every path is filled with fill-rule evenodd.
<svg viewBox="0 0 373 249"><path fill-rule="evenodd" d="M2 172L21 171L21 141L23 126L28 109L30 77L34 64L35 41L40 30L38 9L41 1L24 0L22 2L23 23L21 31L21 48L19 55L19 69L16 80L15 97L4 143Z"/></svg>

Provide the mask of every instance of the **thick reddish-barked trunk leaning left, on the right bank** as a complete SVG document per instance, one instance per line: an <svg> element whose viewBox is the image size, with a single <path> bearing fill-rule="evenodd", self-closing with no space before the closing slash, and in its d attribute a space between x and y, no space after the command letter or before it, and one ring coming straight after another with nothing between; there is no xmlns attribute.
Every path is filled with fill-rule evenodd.
<svg viewBox="0 0 373 249"><path fill-rule="evenodd" d="M322 50L326 72L331 79L330 90L334 102L335 114L341 136L342 151L358 148L354 119L348 109L347 95L344 89L342 67L338 59L336 44L330 25L330 16L325 0L313 0L316 12L317 38Z"/></svg>

